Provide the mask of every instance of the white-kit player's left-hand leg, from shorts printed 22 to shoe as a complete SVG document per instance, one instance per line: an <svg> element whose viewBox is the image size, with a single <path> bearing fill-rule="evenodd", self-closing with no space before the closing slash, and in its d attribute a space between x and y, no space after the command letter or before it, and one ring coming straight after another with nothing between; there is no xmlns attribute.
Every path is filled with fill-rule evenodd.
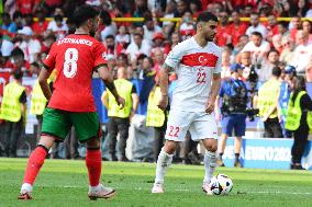
<svg viewBox="0 0 312 207"><path fill-rule="evenodd" d="M187 112L171 111L168 118L168 127L166 130L166 142L161 148L156 164L156 177L152 193L164 193L165 173L172 162L172 157L177 148L178 141L183 141L191 116Z"/></svg>

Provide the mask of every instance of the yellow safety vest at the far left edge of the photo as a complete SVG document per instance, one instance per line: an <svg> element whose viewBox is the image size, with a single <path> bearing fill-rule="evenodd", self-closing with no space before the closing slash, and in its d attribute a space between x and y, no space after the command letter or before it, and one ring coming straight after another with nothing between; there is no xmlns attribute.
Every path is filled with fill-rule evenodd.
<svg viewBox="0 0 312 207"><path fill-rule="evenodd" d="M0 118L16 123L21 119L20 97L25 90L24 87L13 81L4 87L3 99L1 103Z"/></svg>

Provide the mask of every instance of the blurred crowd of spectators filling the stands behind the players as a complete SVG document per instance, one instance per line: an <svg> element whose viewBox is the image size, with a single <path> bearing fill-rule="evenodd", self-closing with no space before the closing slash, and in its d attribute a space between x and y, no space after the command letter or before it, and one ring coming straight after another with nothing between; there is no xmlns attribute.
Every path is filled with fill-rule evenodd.
<svg viewBox="0 0 312 207"><path fill-rule="evenodd" d="M248 106L257 107L255 96L261 85L270 80L276 68L280 70L278 80L286 87L281 91L288 99L297 76L305 78L310 95L312 93L311 0L4 0L0 33L1 97L4 85L13 79L13 71L23 71L25 80L36 80L51 45L75 32L71 15L75 8L82 3L97 7L100 11L101 25L96 38L105 45L108 67L115 78L119 78L121 70L125 79L141 81L140 89L132 93L137 94L145 114L166 56L179 42L196 33L194 19L201 11L210 11L220 20L215 43L223 48L222 78L227 81L236 71L236 64L241 66L238 76L248 91ZM113 21L115 18L144 18L144 21ZM165 18L165 21L160 21L160 18ZM171 18L179 19L170 21ZM247 19L243 21L242 18ZM174 90L176 79L177 74L172 72L170 90ZM31 100L32 87L26 87L26 94ZM288 99L281 101L277 108L283 108L282 104L288 103ZM138 113L137 108L135 111ZM282 118L282 115L278 117ZM0 126L3 127L4 123ZM160 146L165 130L161 127L154 127L155 130L159 129L155 139L160 139ZM285 130L282 124L281 129ZM0 140L4 139L3 135ZM277 137L291 136L285 131ZM1 156L10 156L5 154L4 146ZM67 158L75 159L79 157L75 138L73 146L74 152L68 153ZM198 163L197 143L187 141L185 146L181 147L181 151L186 151L183 156L177 157L182 158L185 163ZM156 158L153 154L158 154L160 147L156 148L156 152L146 158L148 161ZM11 156L15 157L16 152ZM110 154L108 159L118 160L116 157Z"/></svg>

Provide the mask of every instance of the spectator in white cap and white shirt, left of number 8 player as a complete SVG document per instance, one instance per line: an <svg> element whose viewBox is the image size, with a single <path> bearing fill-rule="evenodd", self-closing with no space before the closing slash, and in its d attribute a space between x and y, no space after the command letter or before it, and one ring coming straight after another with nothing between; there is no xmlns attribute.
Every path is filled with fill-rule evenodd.
<svg viewBox="0 0 312 207"><path fill-rule="evenodd" d="M19 30L18 33L22 35L23 41L19 47L23 50L25 60L30 64L37 61L41 53L41 44L37 39L32 37L32 28L24 26L22 30Z"/></svg>

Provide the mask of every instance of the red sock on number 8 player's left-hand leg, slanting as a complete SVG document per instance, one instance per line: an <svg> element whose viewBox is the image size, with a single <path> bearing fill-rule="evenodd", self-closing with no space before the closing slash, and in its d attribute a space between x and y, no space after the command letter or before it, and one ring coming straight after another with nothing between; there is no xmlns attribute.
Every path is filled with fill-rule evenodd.
<svg viewBox="0 0 312 207"><path fill-rule="evenodd" d="M38 146L35 148L35 150L31 153L29 158L23 183L29 183L33 185L38 174L38 171L44 163L46 154L47 151L43 147Z"/></svg>

